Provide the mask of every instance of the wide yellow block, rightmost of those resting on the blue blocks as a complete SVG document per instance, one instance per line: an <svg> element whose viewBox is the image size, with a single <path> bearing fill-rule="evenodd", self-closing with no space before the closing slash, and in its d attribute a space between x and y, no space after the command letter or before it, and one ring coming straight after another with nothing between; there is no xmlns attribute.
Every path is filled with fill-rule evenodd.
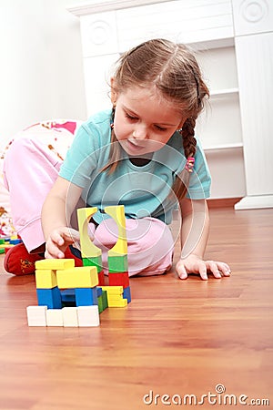
<svg viewBox="0 0 273 410"><path fill-rule="evenodd" d="M56 281L60 289L94 288L98 284L96 267L80 266L66 271L57 271Z"/></svg>

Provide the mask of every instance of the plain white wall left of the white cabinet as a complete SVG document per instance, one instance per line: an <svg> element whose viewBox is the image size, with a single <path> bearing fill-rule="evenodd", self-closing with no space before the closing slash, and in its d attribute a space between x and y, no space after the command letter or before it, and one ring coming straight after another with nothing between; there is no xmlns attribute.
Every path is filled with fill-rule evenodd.
<svg viewBox="0 0 273 410"><path fill-rule="evenodd" d="M86 118L79 19L68 5L0 0L0 151L37 121Z"/></svg>

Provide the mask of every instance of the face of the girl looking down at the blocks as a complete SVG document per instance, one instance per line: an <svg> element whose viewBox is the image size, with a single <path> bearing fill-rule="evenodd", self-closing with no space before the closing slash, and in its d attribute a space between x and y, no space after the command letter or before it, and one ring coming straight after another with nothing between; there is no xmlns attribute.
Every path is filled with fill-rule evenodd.
<svg viewBox="0 0 273 410"><path fill-rule="evenodd" d="M185 120L181 112L152 87L130 87L120 93L112 87L111 99L116 106L116 138L132 157L161 149Z"/></svg>

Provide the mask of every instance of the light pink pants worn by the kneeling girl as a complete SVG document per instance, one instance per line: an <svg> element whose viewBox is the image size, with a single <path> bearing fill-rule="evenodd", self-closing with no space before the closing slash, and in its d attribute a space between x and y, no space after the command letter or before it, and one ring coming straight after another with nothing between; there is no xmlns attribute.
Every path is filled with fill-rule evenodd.
<svg viewBox="0 0 273 410"><path fill-rule="evenodd" d="M27 130L6 152L5 187L10 192L15 229L27 251L45 243L41 209L61 163L54 150L29 136ZM104 266L108 249L116 243L116 232L115 220L106 220L96 228L94 242L103 251ZM174 240L164 222L155 218L126 220L126 233L130 276L161 274L171 267Z"/></svg>

